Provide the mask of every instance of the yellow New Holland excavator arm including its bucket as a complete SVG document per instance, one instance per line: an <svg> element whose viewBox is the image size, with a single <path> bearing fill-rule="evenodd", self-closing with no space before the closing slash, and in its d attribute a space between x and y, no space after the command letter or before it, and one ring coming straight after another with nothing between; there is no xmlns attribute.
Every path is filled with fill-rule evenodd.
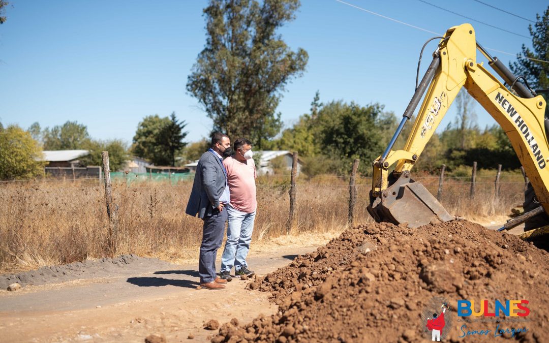
<svg viewBox="0 0 549 343"><path fill-rule="evenodd" d="M465 87L505 131L526 175L530 178L531 189L535 192L535 197L531 197L535 198L534 209L515 218L513 225L547 216L548 93L538 91L540 95L537 95L530 89L524 77L514 76L497 57L492 57L486 52L486 49L475 40L475 32L470 24L451 27L443 37L435 37L432 40L438 38L440 41L433 53L433 60L419 85L416 85L416 92L402 115L400 125L383 155L373 162L369 213L377 222L407 223L409 227L455 219L421 183L414 182L410 170L418 161L457 93ZM507 87L492 75L483 63L477 62L477 50L488 59L488 64L503 79ZM413 122L404 149L392 150L425 91L427 94ZM509 226L511 225L502 229Z"/></svg>

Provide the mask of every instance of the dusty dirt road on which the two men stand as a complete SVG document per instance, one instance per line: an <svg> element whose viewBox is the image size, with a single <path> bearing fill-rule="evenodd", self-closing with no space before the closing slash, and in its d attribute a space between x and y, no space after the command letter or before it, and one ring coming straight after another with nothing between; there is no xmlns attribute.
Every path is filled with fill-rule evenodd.
<svg viewBox="0 0 549 343"><path fill-rule="evenodd" d="M250 257L250 267L266 274L316 248L281 246ZM0 292L1 340L142 342L149 334L165 334L178 342L191 334L205 341L213 333L202 327L209 319L246 323L276 311L267 293L245 290L244 281L233 279L219 291L196 290L196 264L148 261L101 278Z"/></svg>

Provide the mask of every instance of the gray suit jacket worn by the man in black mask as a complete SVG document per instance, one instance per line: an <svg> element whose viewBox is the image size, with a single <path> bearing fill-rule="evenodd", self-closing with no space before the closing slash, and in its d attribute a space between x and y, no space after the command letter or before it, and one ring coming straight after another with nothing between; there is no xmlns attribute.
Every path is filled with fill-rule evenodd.
<svg viewBox="0 0 549 343"><path fill-rule="evenodd" d="M199 218L211 216L214 207L219 206L219 198L226 185L227 177L221 161L217 155L206 151L198 160L193 189L185 212L193 217L198 213Z"/></svg>

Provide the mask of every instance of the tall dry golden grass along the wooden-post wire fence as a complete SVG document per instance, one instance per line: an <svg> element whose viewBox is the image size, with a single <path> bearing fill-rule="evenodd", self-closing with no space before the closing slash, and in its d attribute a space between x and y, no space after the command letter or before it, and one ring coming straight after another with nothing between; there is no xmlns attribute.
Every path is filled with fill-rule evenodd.
<svg viewBox="0 0 549 343"><path fill-rule="evenodd" d="M418 179L436 194L438 177ZM335 176L298 180L298 223L292 234L329 236L344 230L348 180ZM442 205L456 215L482 220L506 215L511 207L522 203L520 179L503 178L497 200L493 177L487 180L478 180L477 197L470 200L467 180L447 179ZM366 210L370 182L362 178L357 185L355 224L371 221ZM287 235L288 184L287 176L257 180L254 243L272 243L272 239ZM120 218L115 254L135 253L168 260L195 258L202 221L184 213L191 186L191 182L114 183ZM110 254L104 189L98 180L2 183L0 201L0 273Z"/></svg>

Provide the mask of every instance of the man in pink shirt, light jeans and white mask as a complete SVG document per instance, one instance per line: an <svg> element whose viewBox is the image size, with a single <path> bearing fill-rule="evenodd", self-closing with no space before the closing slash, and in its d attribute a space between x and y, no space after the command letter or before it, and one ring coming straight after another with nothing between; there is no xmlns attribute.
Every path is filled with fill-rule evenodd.
<svg viewBox="0 0 549 343"><path fill-rule="evenodd" d="M223 160L227 170L227 182L231 193L231 203L227 206L229 226L227 241L221 256L222 279L231 281L231 268L234 275L251 276L246 256L250 251L251 233L254 230L255 211L255 163L252 159L251 142L239 138L234 142L234 155Z"/></svg>

